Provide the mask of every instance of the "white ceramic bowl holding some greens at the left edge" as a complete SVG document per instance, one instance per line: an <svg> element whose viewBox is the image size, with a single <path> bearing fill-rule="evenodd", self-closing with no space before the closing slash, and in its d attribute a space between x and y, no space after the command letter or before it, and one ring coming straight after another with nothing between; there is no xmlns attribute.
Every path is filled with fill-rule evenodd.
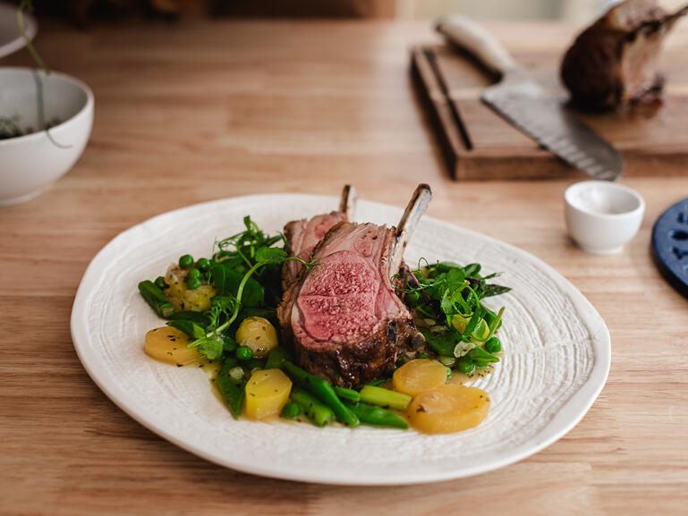
<svg viewBox="0 0 688 516"><path fill-rule="evenodd" d="M0 68L0 116L19 116L22 129L38 129L38 73L30 68ZM46 131L0 140L0 206L36 197L67 173L79 159L93 125L93 93L81 80L64 73L39 72L46 121L58 125Z"/></svg>

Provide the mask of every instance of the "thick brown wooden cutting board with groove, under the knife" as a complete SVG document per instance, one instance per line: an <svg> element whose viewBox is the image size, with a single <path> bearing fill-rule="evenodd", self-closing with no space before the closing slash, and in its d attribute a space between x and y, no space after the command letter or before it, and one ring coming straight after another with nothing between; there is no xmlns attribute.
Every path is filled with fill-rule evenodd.
<svg viewBox="0 0 688 516"><path fill-rule="evenodd" d="M567 98L558 80L560 55L514 55L553 97ZM688 53L665 55L664 102L618 113L576 114L618 148L625 175L688 175ZM412 72L456 180L558 179L584 173L505 122L480 101L493 83L469 55L453 47L412 48Z"/></svg>

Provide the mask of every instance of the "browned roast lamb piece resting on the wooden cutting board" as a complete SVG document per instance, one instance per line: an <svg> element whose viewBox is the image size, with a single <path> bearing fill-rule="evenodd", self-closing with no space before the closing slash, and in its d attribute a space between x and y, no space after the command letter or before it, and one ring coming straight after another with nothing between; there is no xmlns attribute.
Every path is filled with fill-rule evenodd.
<svg viewBox="0 0 688 516"><path fill-rule="evenodd" d="M656 0L625 0L584 30L568 49L561 76L573 102L614 109L656 100L663 87L662 42L688 5L673 13Z"/></svg>

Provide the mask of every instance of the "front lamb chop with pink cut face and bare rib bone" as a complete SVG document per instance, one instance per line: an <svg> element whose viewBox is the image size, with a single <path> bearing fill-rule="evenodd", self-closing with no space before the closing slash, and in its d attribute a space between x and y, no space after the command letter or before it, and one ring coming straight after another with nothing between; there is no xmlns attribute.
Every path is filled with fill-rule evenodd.
<svg viewBox="0 0 688 516"><path fill-rule="evenodd" d="M351 387L390 372L409 349L418 332L390 275L427 201L428 194L414 194L399 230L341 222L320 241L312 255L318 265L293 283L277 309L302 368Z"/></svg>

